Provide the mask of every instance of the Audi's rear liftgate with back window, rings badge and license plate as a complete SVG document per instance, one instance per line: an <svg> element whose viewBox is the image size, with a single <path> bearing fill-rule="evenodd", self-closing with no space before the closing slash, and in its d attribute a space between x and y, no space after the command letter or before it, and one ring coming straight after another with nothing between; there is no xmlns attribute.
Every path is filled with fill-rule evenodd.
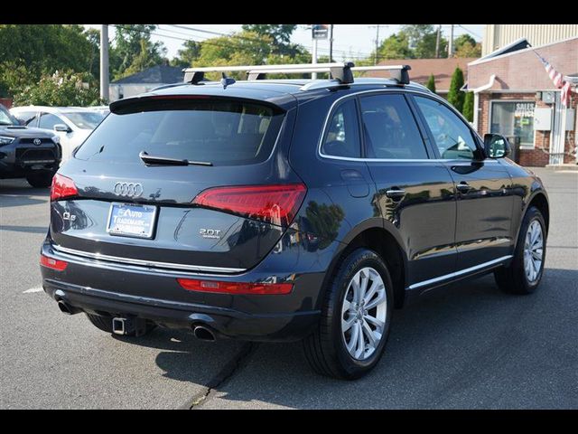
<svg viewBox="0 0 578 434"><path fill-rule="evenodd" d="M152 99L111 113L61 169L78 194L51 205L57 250L169 269L255 266L287 226L283 207L299 199L275 187L300 181L275 158L293 119L291 109L211 98ZM145 164L143 152L190 164ZM233 188L194 203L220 187ZM283 206L266 213L280 194Z"/></svg>

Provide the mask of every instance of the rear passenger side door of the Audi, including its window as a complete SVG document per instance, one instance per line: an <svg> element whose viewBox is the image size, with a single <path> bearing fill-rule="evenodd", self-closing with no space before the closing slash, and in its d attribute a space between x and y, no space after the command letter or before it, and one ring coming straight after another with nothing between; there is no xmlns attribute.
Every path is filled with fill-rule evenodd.
<svg viewBox="0 0 578 434"><path fill-rule="evenodd" d="M452 177L433 159L402 93L359 98L365 157L384 224L398 231L408 259L406 286L420 287L455 269L456 204Z"/></svg>

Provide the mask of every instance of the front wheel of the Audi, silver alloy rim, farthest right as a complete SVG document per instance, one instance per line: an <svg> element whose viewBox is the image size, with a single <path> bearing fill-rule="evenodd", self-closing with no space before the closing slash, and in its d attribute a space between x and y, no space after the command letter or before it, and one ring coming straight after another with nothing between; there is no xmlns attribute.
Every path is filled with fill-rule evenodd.
<svg viewBox="0 0 578 434"><path fill-rule="evenodd" d="M542 279L545 262L545 222L536 207L527 210L508 267L494 271L499 288L512 294L533 293Z"/></svg>

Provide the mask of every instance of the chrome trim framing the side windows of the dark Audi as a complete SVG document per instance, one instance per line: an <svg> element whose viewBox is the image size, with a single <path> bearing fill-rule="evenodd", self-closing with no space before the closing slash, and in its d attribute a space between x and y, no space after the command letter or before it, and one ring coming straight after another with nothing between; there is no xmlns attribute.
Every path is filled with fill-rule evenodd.
<svg viewBox="0 0 578 434"><path fill-rule="evenodd" d="M361 83L359 83L361 84ZM385 91L384 91L385 90ZM330 122L330 117L331 114L333 113L333 110L335 109L335 107L340 104L340 101L342 101L343 99L348 99L348 98L354 98L357 97L359 95L364 95L367 93L382 93L382 94L387 94L387 91L393 91L395 92L396 90L399 89L373 89L373 90L362 90L360 92L351 92L348 93L347 95L343 95L342 97L335 99L333 101L333 103L331 104L331 107L329 108L329 110L327 111L327 115L325 117L325 122L323 123L323 128L322 128L322 134L321 137L319 137L319 143L317 144L317 154L318 156L321 156L322 158L326 158L326 159L330 159L330 160L341 160L341 161L356 161L356 162L366 162L366 163L449 163L449 162L456 162L456 163L471 163L473 161L477 161L477 160L468 160L468 159L443 159L443 158L421 158L421 159L398 159L398 158L358 158L358 157L350 157L350 156L330 156L327 154L323 154L322 153L322 146L323 146L323 137L325 137L325 133L327 132L327 127L329 125ZM431 92L424 92L421 90L409 90L409 89L405 89L404 93L415 93L417 95L423 95L425 97L430 97L431 99L441 99L440 97L437 97L436 95L434 95ZM411 107L410 107L411 109ZM469 126L467 126L469 127ZM471 128L471 127L470 127ZM483 161L483 163L497 163L498 160L496 159L489 159L486 158L484 160L480 160Z"/></svg>

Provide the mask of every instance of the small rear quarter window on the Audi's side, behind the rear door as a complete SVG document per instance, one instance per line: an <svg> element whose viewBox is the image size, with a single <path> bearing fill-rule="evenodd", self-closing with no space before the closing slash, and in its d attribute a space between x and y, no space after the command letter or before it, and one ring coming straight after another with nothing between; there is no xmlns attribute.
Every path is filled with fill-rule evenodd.
<svg viewBox="0 0 578 434"><path fill-rule="evenodd" d="M323 140L322 153L352 158L361 156L358 113L354 99L348 99L333 112Z"/></svg>

